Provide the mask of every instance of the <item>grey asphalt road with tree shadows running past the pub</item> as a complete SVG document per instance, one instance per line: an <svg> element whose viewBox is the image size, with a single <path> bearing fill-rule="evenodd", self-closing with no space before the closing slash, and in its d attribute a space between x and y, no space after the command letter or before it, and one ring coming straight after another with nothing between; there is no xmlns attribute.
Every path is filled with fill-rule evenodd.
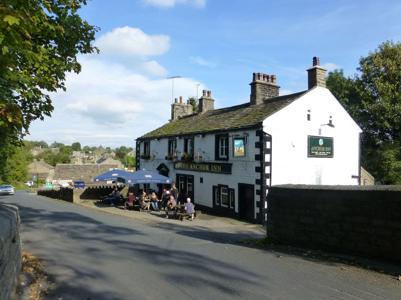
<svg viewBox="0 0 401 300"><path fill-rule="evenodd" d="M158 225L26 191L0 200L19 207L23 249L45 261L63 300L401 298L390 275L229 243L185 222Z"/></svg>

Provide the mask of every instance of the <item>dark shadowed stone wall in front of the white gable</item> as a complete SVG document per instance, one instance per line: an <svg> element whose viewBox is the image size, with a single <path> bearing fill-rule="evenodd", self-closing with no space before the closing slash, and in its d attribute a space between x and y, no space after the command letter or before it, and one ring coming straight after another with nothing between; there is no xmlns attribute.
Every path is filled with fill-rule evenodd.
<svg viewBox="0 0 401 300"><path fill-rule="evenodd" d="M401 185L270 186L273 243L401 262Z"/></svg>

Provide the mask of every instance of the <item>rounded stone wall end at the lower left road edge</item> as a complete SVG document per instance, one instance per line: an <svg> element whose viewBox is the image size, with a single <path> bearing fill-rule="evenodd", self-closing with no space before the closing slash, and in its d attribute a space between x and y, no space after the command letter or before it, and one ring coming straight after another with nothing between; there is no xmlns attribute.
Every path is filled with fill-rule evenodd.
<svg viewBox="0 0 401 300"><path fill-rule="evenodd" d="M18 207L0 204L0 299L15 299L21 272Z"/></svg>

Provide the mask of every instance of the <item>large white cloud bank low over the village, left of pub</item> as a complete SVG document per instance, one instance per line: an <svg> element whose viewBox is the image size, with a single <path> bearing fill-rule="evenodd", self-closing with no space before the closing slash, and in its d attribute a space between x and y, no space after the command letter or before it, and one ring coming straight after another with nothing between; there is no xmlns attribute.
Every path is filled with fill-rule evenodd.
<svg viewBox="0 0 401 300"><path fill-rule="evenodd" d="M153 79L140 67L81 56L82 71L69 73L67 91L51 93L55 110L45 121L32 123L28 140L110 147L134 146L134 139L171 117L171 80ZM164 69L145 62L148 69ZM174 97L193 94L199 80L174 80Z"/></svg>

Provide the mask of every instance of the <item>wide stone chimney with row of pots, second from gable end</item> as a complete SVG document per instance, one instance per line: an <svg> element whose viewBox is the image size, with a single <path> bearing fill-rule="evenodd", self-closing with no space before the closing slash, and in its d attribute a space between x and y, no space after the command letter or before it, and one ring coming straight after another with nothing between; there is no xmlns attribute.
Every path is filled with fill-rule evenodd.
<svg viewBox="0 0 401 300"><path fill-rule="evenodd" d="M276 84L276 75L253 73L251 85L251 105L279 96L280 86Z"/></svg>

